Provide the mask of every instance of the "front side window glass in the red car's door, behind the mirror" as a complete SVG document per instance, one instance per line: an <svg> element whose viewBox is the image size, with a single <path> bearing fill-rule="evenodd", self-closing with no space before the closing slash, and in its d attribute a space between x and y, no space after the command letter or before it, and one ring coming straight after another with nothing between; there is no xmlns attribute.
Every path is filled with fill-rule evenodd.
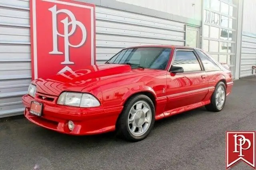
<svg viewBox="0 0 256 170"><path fill-rule="evenodd" d="M183 67L184 72L202 71L199 61L193 51L176 51L172 65Z"/></svg>

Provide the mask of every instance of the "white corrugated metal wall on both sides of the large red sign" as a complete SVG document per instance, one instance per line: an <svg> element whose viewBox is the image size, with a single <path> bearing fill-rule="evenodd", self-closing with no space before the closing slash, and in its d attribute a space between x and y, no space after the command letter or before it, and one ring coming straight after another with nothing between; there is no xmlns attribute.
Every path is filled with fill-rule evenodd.
<svg viewBox="0 0 256 170"><path fill-rule="evenodd" d="M184 45L185 24L96 7L96 60L124 47ZM0 1L0 117L21 114L31 81L29 0Z"/></svg>

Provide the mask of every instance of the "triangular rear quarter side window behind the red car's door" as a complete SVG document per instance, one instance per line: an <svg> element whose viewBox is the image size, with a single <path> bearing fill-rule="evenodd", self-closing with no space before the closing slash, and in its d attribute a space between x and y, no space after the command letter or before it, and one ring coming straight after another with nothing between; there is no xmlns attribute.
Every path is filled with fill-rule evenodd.
<svg viewBox="0 0 256 170"><path fill-rule="evenodd" d="M202 60L205 71L216 71L220 70L220 67L216 63L214 63L207 55L205 55L201 50L196 49L199 57Z"/></svg>

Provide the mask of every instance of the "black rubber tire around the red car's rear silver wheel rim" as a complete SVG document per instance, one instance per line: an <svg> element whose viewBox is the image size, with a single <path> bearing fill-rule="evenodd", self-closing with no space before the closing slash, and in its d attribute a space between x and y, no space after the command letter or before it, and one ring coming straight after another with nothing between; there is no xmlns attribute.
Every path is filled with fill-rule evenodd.
<svg viewBox="0 0 256 170"><path fill-rule="evenodd" d="M218 88L219 88L220 86L223 87L224 93L225 93L225 95L224 95L224 103L223 103L223 105L222 105L221 107L217 107L217 104L216 104L216 93L217 93L217 90L218 90ZM208 104L208 105L205 105L205 108L206 108L206 110L208 110L208 111L219 112L219 111L221 111L221 110L224 108L225 103L226 103L226 85L225 85L222 81L220 81L220 82L216 85L215 90L214 90L214 92L212 93L211 103Z"/></svg>

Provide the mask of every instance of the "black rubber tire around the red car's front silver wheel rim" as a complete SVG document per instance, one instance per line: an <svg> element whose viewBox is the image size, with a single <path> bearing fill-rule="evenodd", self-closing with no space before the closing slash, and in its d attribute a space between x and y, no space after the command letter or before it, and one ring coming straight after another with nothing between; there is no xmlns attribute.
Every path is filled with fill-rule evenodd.
<svg viewBox="0 0 256 170"><path fill-rule="evenodd" d="M132 132L130 132L130 130L129 130L130 127L128 124L130 109L138 101L146 102L150 106L151 113L152 113L151 122L148 125L149 126L148 130L146 130L146 132L144 134L142 134L141 136L135 136L134 134L132 134ZM143 95L143 94L138 94L138 95L130 97L130 99L128 99L128 101L126 101L126 103L124 105L124 109L123 109L122 113L120 114L120 117L117 121L117 129L116 130L117 130L118 136L120 136L124 140L138 142L140 140L145 139L148 136L148 134L150 134L152 128L154 127L154 122L155 122L155 108L154 108L153 102L151 101L151 99L148 96Z"/></svg>

